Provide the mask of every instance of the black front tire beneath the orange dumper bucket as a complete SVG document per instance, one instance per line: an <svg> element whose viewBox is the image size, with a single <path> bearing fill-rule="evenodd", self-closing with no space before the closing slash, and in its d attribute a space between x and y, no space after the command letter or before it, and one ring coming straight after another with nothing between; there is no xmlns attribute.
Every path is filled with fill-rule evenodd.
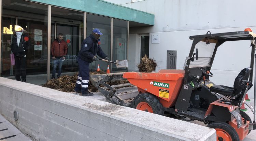
<svg viewBox="0 0 256 141"><path fill-rule="evenodd" d="M137 95L133 102L132 102L132 108L137 108L138 104L141 102L146 102L153 110L154 114L163 115L164 110L162 104L159 102L159 99L157 99L154 95L148 94L148 93L142 93ZM144 110L148 112L147 110Z"/></svg>

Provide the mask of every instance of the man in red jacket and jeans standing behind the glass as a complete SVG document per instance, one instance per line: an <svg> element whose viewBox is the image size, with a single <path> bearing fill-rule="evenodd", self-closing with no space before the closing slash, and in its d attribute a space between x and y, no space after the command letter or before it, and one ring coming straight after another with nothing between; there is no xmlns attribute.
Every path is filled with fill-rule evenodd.
<svg viewBox="0 0 256 141"><path fill-rule="evenodd" d="M67 55L68 52L68 46L65 41L63 41L63 34L59 33L58 38L55 39L51 45L51 53L52 53L52 58L53 58L53 75L52 79L55 78L55 73L56 73L56 68L58 67L58 74L57 78L60 77L61 73L61 66L62 66L62 60L65 59L65 56Z"/></svg>

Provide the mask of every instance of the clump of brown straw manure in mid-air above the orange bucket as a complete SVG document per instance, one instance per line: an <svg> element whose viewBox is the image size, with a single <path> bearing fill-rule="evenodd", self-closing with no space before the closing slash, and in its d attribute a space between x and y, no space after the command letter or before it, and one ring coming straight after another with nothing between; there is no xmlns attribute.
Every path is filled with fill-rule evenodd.
<svg viewBox="0 0 256 141"><path fill-rule="evenodd" d="M146 55L141 58L141 61L138 64L138 68L141 73L151 73L156 70L156 66L156 60L147 58Z"/></svg>

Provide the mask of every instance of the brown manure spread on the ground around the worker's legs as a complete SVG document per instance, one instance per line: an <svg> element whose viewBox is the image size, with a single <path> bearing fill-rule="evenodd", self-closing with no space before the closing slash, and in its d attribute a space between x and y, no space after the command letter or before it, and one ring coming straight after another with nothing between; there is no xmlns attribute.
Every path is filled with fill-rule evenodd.
<svg viewBox="0 0 256 141"><path fill-rule="evenodd" d="M90 72L90 75L97 75L97 74L106 74L106 72L100 70L95 72ZM43 87L48 87L52 89L57 89L62 92L74 92L75 83L77 80L78 73L73 76L61 76L58 79L51 79L47 83L43 85ZM114 81L114 82L107 82L109 85L117 85L117 84L124 84L129 83L128 80L121 80L121 81ZM97 92L97 88L91 84L89 81L88 90L91 92Z"/></svg>

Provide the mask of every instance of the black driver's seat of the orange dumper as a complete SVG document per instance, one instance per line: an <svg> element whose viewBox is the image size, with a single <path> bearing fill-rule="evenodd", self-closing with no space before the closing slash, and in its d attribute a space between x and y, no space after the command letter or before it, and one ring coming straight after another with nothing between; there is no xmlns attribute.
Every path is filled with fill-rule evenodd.
<svg viewBox="0 0 256 141"><path fill-rule="evenodd" d="M228 87L223 85L213 85L211 86L211 92L223 94L226 96L238 95L244 88L246 82L249 79L251 68L244 68L237 76L234 81L234 87Z"/></svg>

